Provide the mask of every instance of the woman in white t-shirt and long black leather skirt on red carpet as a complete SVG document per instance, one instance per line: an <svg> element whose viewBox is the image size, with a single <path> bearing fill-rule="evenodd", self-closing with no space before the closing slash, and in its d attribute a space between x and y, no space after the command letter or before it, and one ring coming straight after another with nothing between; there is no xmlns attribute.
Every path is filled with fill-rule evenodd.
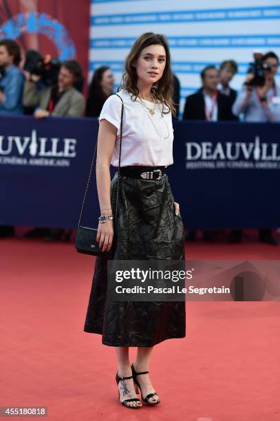
<svg viewBox="0 0 280 421"><path fill-rule="evenodd" d="M116 235L114 259L184 259L179 204L164 173L173 164L170 62L166 38L153 32L136 40L125 61L118 91L124 103L118 223L115 233L114 220L98 224L96 237L105 252ZM109 165L118 166L122 100L117 95L107 98L99 118L96 182L101 215L115 215L118 176L110 180ZM147 170L153 171L153 179L140 176ZM139 386L144 402L158 404L148 371L151 352L157 343L186 336L185 303L108 303L106 292L107 259L102 256L96 259L84 330L102 334L103 344L115 347L120 402L139 409ZM138 354L130 366L131 346L138 347Z"/></svg>

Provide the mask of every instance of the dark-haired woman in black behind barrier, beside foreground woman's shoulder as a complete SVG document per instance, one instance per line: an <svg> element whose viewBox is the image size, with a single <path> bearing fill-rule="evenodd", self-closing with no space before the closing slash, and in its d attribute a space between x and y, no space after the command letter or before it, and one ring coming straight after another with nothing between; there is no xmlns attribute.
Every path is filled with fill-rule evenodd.
<svg viewBox="0 0 280 421"><path fill-rule="evenodd" d="M91 79L87 97L87 117L99 117L105 100L113 93L114 75L110 68L102 66L96 69Z"/></svg>

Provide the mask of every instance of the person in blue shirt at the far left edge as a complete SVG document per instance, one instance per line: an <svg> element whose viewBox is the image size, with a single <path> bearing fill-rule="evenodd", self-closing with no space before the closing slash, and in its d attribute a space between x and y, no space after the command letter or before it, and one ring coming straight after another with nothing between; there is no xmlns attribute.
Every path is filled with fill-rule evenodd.
<svg viewBox="0 0 280 421"><path fill-rule="evenodd" d="M23 114L24 76L19 70L21 52L12 39L0 41L0 114Z"/></svg>

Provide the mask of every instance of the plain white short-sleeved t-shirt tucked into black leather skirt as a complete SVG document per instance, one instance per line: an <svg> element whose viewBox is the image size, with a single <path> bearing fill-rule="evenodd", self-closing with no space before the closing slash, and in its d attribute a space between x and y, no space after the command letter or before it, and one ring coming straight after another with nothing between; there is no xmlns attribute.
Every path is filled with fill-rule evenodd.
<svg viewBox="0 0 280 421"><path fill-rule="evenodd" d="M122 151L120 166L142 165L142 166L168 166L173 164L173 125L171 111L162 116L162 104L155 104L144 100L147 107L155 107L155 114L150 115L153 123L162 136L155 130L149 119L149 111L138 102L131 100L131 93L121 89L117 94L124 102L122 119ZM135 97L133 96L133 99ZM116 95L111 95L105 101L98 118L108 120L117 127L117 136L111 165L118 166L118 155L120 150L120 120L122 111L122 100ZM164 107L167 111L167 107ZM164 123L166 122L166 124ZM168 129L169 129L169 137ZM164 139L166 138L166 139Z"/></svg>

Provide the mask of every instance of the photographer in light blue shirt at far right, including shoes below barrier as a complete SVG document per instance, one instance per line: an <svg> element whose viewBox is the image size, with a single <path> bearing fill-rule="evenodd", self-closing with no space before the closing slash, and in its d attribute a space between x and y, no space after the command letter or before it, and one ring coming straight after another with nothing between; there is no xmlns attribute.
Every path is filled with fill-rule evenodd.
<svg viewBox="0 0 280 421"><path fill-rule="evenodd" d="M233 104L233 113L237 116L243 114L244 121L277 122L280 120L280 87L275 83L274 76L277 74L279 58L270 51L263 56L262 61L270 65L270 70L263 70L264 85L256 86L253 83L250 85L255 75L248 74L245 80L246 85L243 85ZM228 241L239 243L241 236L242 230L232 230ZM272 235L272 230L269 228L259 230L259 241L274 246L278 244L277 238Z"/></svg>

